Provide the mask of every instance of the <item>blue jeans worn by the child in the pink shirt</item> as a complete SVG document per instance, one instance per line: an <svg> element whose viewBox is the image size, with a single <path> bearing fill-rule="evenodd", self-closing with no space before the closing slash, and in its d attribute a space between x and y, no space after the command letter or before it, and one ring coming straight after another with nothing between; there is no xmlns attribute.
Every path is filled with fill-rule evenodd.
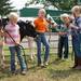
<svg viewBox="0 0 81 81"><path fill-rule="evenodd" d="M17 54L22 71L24 69L26 69L26 64L25 64L24 58L22 56L21 48L18 48L18 46L9 46L9 49L10 49L10 53L11 53L11 71L12 72L15 71L15 53Z"/></svg>

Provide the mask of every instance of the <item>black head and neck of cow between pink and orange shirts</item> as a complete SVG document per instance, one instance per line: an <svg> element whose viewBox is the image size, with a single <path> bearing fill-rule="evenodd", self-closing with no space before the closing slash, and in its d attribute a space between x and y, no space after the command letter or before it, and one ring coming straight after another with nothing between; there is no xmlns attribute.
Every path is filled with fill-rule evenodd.
<svg viewBox="0 0 81 81"><path fill-rule="evenodd" d="M26 36L32 37L32 38L37 37L37 31L35 29L35 26L31 24L31 22L18 21L17 24L19 26L21 41Z"/></svg>

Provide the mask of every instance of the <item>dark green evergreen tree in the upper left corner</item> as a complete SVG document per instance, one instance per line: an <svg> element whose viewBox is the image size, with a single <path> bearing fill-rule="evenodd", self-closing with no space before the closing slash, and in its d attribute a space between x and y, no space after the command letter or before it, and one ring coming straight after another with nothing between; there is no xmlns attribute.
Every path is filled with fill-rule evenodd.
<svg viewBox="0 0 81 81"><path fill-rule="evenodd" d="M10 0L0 0L0 15L4 16L6 14L9 14L13 6L11 6L11 2Z"/></svg>

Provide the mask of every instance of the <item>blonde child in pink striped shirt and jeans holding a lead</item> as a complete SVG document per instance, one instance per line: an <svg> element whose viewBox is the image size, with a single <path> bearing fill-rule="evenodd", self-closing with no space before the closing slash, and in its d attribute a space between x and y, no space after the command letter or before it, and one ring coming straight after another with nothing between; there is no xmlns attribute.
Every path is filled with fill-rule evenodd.
<svg viewBox="0 0 81 81"><path fill-rule="evenodd" d="M24 62L24 58L22 56L21 49L17 46L21 41L19 37L19 27L16 24L17 23L17 14L16 13L10 13L9 15L9 24L5 26L5 30L12 36L12 38L15 40L15 42L11 39L11 37L6 33L6 44L9 45L9 50L11 53L11 72L15 73L15 53L17 54L22 75L26 75L26 64Z"/></svg>

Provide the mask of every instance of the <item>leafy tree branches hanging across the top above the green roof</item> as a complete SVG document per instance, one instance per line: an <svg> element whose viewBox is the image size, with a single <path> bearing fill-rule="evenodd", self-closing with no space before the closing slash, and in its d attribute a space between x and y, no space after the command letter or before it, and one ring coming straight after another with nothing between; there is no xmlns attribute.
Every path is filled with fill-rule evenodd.
<svg viewBox="0 0 81 81"><path fill-rule="evenodd" d="M26 3L26 6L29 4L43 3L44 8L49 5L54 5L58 10L71 10L73 5L78 4L78 0L30 0L29 3Z"/></svg>

